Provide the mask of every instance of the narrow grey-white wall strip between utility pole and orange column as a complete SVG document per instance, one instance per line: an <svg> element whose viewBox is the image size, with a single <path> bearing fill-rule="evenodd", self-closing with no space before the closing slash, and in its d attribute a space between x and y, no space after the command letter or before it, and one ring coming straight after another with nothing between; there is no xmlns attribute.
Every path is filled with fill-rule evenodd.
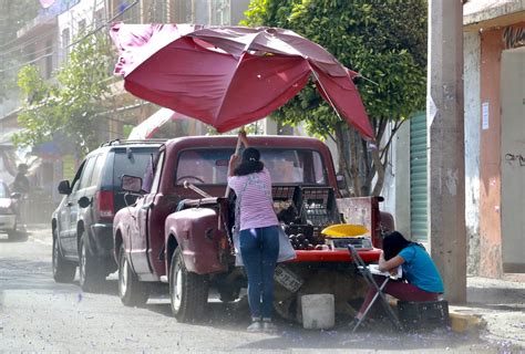
<svg viewBox="0 0 525 354"><path fill-rule="evenodd" d="M467 272L477 274L480 266L480 55L478 32L463 35L465 102L465 222Z"/></svg>

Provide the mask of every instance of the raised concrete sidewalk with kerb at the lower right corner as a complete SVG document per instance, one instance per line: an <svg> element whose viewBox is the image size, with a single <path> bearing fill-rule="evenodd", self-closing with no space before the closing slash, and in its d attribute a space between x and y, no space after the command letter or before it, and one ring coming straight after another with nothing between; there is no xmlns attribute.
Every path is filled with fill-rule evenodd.
<svg viewBox="0 0 525 354"><path fill-rule="evenodd" d="M467 303L450 305L450 313L454 332L525 351L525 274L469 277Z"/></svg>

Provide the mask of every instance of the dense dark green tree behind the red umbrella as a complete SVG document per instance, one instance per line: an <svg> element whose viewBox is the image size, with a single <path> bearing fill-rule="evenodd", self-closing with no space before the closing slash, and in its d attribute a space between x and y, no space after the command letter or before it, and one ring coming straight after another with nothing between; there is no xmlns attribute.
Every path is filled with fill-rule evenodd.
<svg viewBox="0 0 525 354"><path fill-rule="evenodd" d="M309 133L332 137L350 194L379 195L392 137L424 107L426 1L253 0L246 15L247 25L294 30L366 77L356 84L374 127L372 144L338 117L311 82L274 116L291 125L305 121Z"/></svg>

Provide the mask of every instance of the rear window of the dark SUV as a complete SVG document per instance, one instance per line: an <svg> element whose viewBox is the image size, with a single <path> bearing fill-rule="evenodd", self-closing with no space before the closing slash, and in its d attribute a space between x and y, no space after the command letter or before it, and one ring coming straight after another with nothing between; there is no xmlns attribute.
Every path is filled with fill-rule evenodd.
<svg viewBox="0 0 525 354"><path fill-rule="evenodd" d="M156 154L151 149L126 149L115 150L115 159L113 163L113 185L121 188L121 178L123 175L144 178L144 171L150 164L152 154Z"/></svg>

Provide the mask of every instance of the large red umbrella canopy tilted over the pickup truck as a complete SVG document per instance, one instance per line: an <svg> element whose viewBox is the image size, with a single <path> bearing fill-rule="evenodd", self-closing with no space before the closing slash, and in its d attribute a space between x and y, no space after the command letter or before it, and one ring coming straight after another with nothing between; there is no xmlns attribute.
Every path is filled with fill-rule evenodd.
<svg viewBox="0 0 525 354"><path fill-rule="evenodd" d="M111 37L120 50L115 73L128 92L219 133L269 115L313 73L323 98L364 138L373 138L351 72L292 31L116 23Z"/></svg>

